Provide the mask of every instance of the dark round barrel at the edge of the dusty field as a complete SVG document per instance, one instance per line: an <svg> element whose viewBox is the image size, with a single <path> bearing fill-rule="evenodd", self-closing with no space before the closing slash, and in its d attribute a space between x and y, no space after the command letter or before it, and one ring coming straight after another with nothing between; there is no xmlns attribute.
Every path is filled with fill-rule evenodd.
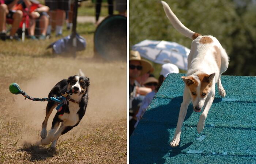
<svg viewBox="0 0 256 164"><path fill-rule="evenodd" d="M106 17L94 34L95 51L106 60L127 59L127 17Z"/></svg>

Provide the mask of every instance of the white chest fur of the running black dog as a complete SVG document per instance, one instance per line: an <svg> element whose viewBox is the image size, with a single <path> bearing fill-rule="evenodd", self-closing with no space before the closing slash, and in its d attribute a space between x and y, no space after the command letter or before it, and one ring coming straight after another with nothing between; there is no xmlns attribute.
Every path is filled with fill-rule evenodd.
<svg viewBox="0 0 256 164"><path fill-rule="evenodd" d="M63 120L65 126L74 126L79 121L79 116L77 114L80 109L79 104L69 102L68 108L69 113L64 113L62 116L59 116L59 118Z"/></svg>

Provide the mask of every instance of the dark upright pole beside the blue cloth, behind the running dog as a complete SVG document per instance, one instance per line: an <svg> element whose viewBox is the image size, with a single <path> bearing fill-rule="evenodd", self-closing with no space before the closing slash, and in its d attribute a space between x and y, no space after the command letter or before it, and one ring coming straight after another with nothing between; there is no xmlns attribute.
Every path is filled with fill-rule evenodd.
<svg viewBox="0 0 256 164"><path fill-rule="evenodd" d="M71 40L72 40L72 52L73 57L76 58L76 18L77 18L77 11L78 11L78 0L75 0L74 2L74 8L73 8L73 26L72 26L72 34L71 34Z"/></svg>

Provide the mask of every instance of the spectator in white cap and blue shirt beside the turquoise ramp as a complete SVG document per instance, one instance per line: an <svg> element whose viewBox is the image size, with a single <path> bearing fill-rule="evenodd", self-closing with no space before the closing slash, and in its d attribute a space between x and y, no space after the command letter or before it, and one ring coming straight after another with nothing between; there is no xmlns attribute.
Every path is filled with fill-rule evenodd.
<svg viewBox="0 0 256 164"><path fill-rule="evenodd" d="M136 128L136 126L138 125L139 120L142 118L143 114L146 112L146 109L147 109L148 105L151 103L155 94L157 93L157 91L161 87L163 81L165 80L167 75L170 74L170 73L179 73L178 67L176 65L171 64L171 63L163 64L162 65L162 70L160 72L160 76L158 78L158 82L159 82L158 86L151 93L148 93L146 95L146 97L143 99L142 104L140 105L139 112L136 114L137 122L134 125L134 128Z"/></svg>

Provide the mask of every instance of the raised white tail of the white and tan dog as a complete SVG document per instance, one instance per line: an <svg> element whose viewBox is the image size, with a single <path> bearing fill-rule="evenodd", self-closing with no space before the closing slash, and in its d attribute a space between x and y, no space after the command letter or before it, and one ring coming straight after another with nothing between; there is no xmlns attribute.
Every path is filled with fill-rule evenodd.
<svg viewBox="0 0 256 164"><path fill-rule="evenodd" d="M187 36L188 38L191 39L196 39L200 34L197 34L196 32L193 32L189 30L187 27L185 27L180 20L177 18L177 16L172 12L170 9L169 5L165 1L161 1L163 5L163 9L165 10L166 16L172 23L173 27L180 32L181 34Z"/></svg>

